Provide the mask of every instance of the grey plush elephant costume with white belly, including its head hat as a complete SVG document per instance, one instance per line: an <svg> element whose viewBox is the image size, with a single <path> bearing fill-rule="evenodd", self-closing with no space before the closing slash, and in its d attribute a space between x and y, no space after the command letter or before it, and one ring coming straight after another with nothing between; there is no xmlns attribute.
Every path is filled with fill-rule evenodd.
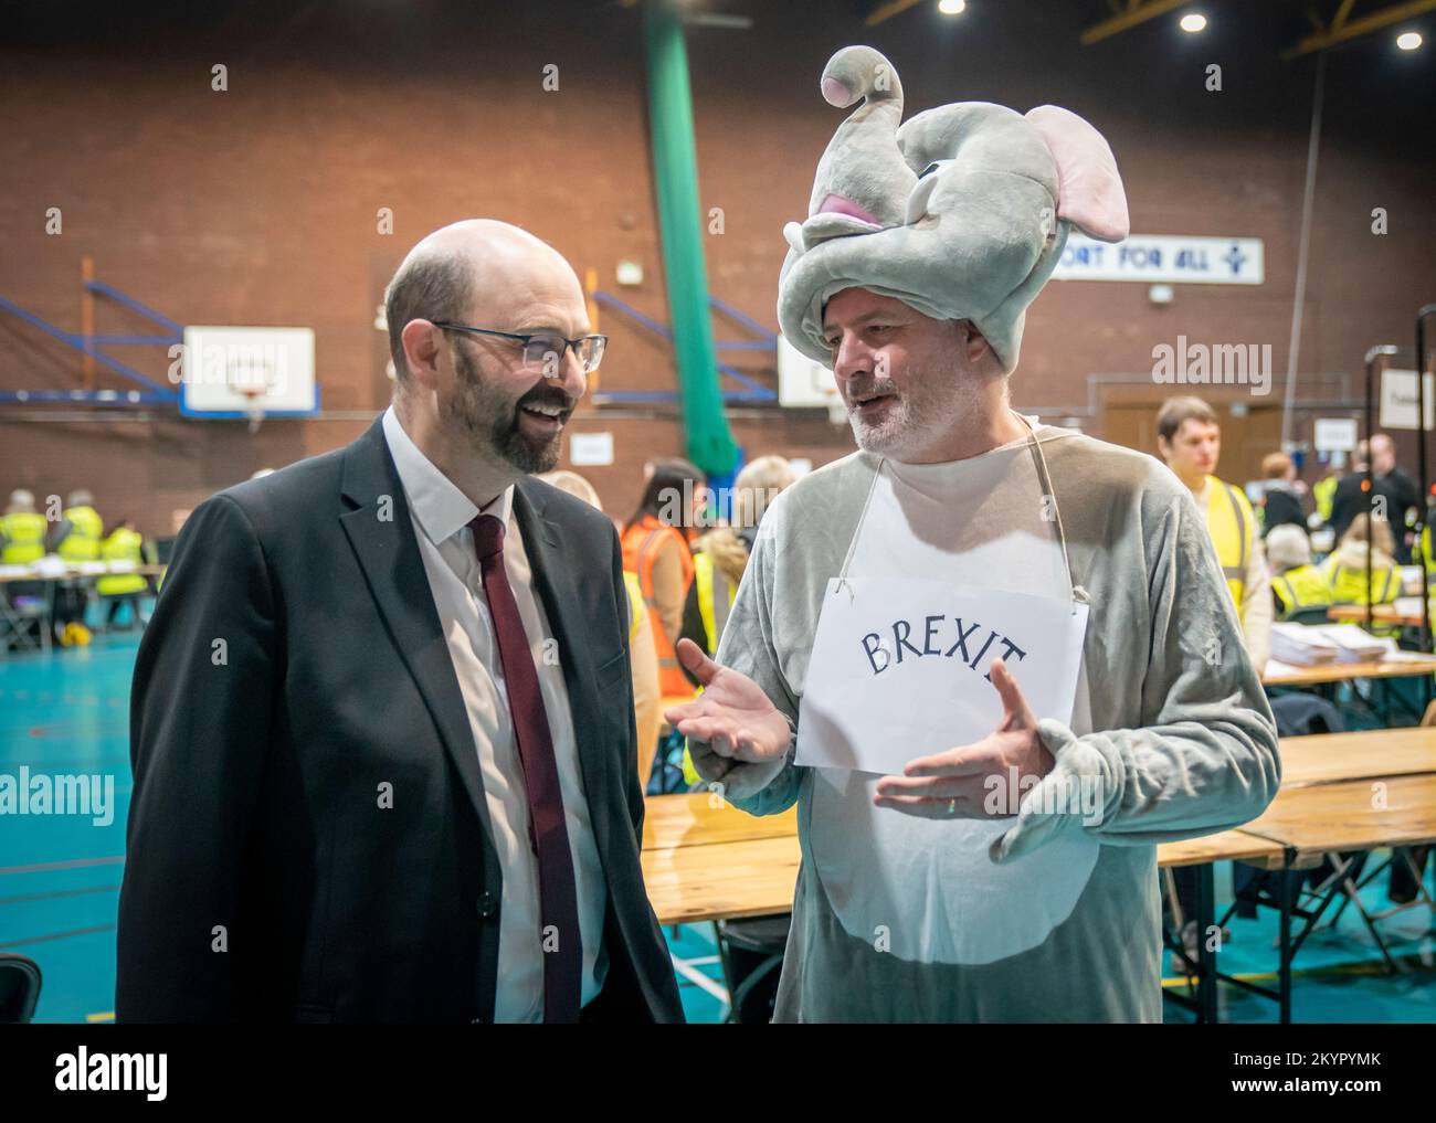
<svg viewBox="0 0 1436 1123"><path fill-rule="evenodd" d="M1050 106L1022 116L962 103L899 128L900 89L869 47L824 70L830 102L864 101L819 165L810 217L785 231L784 332L830 362L823 303L863 287L971 319L1010 372L1070 225L1124 234L1116 161L1090 125ZM1035 513L1045 488L1061 553ZM775 1020L1160 1021L1156 844L1252 819L1281 777L1271 709L1190 493L1152 457L1053 427L964 461L885 467L854 452L804 477L764 516L717 653L767 694L794 741L827 583L847 559L860 577L920 570L1080 595L1078 705L1070 725L1038 724L1055 767L1032 796L1090 784L1100 816L1024 798L974 847L964 820L875 809L876 777L798 765L791 748L735 763L689 741L698 773L737 807L798 806ZM923 833L892 829L913 821ZM1004 887L984 870L1005 872ZM1027 899L1048 895L1061 902ZM1007 912L1025 919L1010 926ZM976 923L992 928L985 939L968 939Z"/></svg>

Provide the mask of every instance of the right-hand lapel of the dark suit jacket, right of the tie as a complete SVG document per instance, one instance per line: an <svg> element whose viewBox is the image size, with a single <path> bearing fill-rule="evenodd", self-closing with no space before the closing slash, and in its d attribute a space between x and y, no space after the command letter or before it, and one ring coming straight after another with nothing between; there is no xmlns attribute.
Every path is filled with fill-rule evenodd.
<svg viewBox="0 0 1436 1123"><path fill-rule="evenodd" d="M609 816L603 809L607 806L605 797L607 747L596 738L599 691L593 679L593 645L589 642L587 616L579 602L574 574L564 563L559 527L544 517L544 505L541 493L530 480L520 480L514 488L514 518L524 537L534 589L543 602L553 638L559 642L559 665L563 668L563 682L569 691L574 747L579 754L579 770L583 774L583 790L589 800L589 819L593 823L599 856L606 867Z"/></svg>

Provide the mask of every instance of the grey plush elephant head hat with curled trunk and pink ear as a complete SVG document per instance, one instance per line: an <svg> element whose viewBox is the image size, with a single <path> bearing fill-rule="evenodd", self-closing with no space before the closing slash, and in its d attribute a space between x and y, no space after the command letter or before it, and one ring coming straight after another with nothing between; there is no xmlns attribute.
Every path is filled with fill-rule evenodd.
<svg viewBox="0 0 1436 1123"><path fill-rule="evenodd" d="M824 366L823 306L843 289L892 296L923 316L971 320L1011 373L1027 306L1077 227L1127 237L1127 198L1111 148L1055 105L1018 113L955 102L903 125L902 83L872 47L837 52L823 98L862 105L817 165L808 217L788 223L778 323Z"/></svg>

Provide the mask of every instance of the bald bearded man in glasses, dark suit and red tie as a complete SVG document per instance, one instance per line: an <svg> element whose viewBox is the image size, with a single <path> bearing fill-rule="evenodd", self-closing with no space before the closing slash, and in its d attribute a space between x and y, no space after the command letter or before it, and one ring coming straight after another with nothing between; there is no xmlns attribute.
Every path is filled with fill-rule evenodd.
<svg viewBox="0 0 1436 1123"><path fill-rule="evenodd" d="M431 234L389 411L185 523L135 666L121 1021L681 1021L617 537L528 477L603 340L549 246Z"/></svg>

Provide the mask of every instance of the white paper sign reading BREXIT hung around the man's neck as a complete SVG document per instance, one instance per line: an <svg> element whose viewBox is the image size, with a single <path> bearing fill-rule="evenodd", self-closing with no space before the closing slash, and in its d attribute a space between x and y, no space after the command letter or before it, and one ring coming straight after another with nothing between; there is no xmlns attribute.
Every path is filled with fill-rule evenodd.
<svg viewBox="0 0 1436 1123"><path fill-rule="evenodd" d="M833 577L794 760L890 775L915 757L981 741L1002 719L987 676L998 656L1038 718L1070 725L1086 632L1087 606L1070 600Z"/></svg>

